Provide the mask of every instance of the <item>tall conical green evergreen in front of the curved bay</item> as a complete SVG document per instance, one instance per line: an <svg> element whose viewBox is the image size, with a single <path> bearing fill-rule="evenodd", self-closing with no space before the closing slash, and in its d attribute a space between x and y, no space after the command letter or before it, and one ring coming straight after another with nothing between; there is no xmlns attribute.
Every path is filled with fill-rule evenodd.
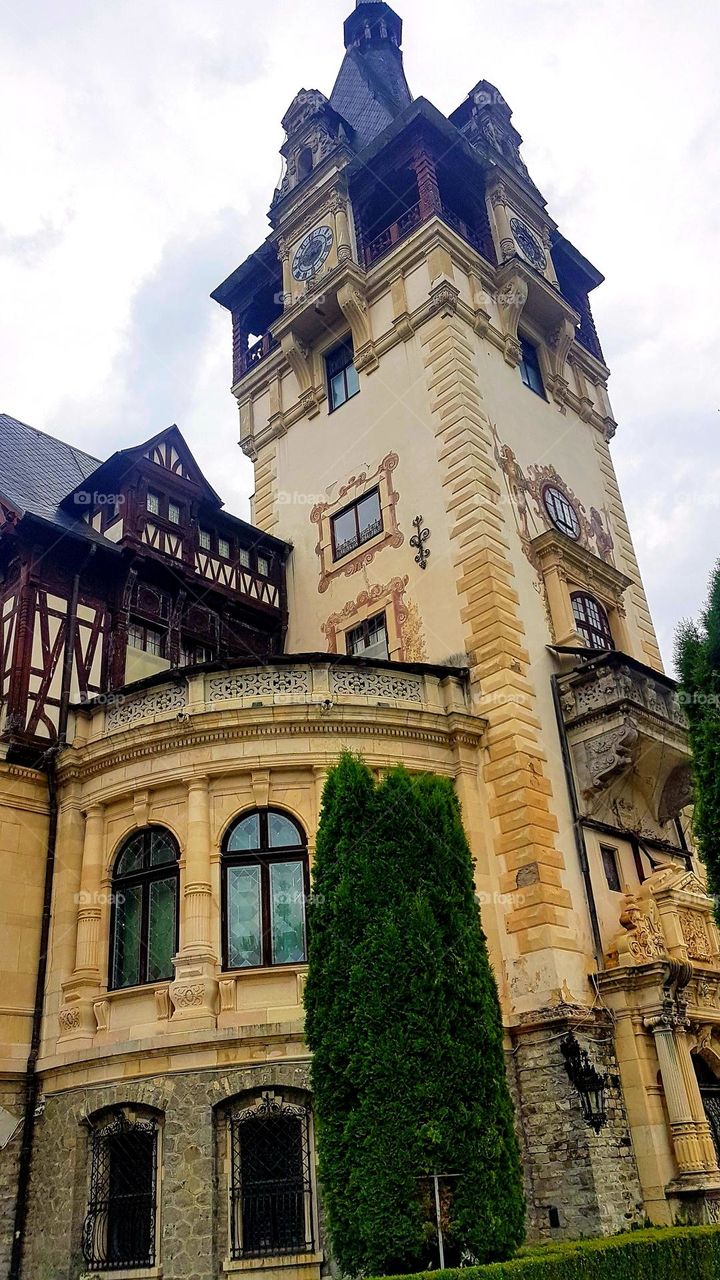
<svg viewBox="0 0 720 1280"><path fill-rule="evenodd" d="M343 1271L505 1258L524 1203L495 979L452 785L345 755L323 795L305 993L319 1176Z"/></svg>

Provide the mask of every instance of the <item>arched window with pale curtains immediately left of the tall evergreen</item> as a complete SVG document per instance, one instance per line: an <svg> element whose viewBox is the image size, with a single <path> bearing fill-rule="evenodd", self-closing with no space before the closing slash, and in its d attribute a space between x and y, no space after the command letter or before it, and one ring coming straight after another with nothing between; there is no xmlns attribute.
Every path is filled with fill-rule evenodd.
<svg viewBox="0 0 720 1280"><path fill-rule="evenodd" d="M307 842L292 818L256 809L223 845L223 968L306 960Z"/></svg>

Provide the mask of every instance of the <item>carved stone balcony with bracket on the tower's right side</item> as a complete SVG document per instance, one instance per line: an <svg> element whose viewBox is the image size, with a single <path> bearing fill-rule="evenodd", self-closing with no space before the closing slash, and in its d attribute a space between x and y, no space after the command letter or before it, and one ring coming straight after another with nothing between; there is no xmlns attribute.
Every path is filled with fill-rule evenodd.
<svg viewBox="0 0 720 1280"><path fill-rule="evenodd" d="M687 722L674 682L611 653L561 676L559 687L582 809L664 838L691 801Z"/></svg>

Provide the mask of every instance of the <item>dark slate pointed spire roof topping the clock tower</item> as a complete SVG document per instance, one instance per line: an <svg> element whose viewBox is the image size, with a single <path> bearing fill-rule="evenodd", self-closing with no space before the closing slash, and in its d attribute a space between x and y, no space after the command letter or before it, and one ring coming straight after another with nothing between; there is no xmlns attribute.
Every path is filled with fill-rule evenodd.
<svg viewBox="0 0 720 1280"><path fill-rule="evenodd" d="M357 0L345 23L345 58L331 106L368 146L413 101L402 65L402 19L384 0Z"/></svg>

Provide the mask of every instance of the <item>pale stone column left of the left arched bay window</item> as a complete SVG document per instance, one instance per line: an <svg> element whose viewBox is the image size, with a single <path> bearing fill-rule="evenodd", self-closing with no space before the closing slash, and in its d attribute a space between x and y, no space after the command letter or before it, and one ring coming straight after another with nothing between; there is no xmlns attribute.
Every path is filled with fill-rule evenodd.
<svg viewBox="0 0 720 1280"><path fill-rule="evenodd" d="M85 818L82 870L77 896L76 963L72 978L63 983L63 998L58 1014L61 1039L90 1042L97 1030L92 1006L101 993L104 837L105 810L101 804L95 804Z"/></svg>

